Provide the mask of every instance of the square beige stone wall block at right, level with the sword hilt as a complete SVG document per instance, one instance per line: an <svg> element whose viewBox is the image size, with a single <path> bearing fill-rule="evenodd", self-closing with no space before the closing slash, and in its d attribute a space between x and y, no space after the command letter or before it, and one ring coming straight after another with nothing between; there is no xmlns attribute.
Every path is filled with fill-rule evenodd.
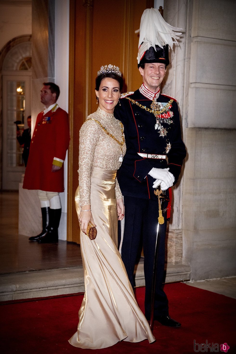
<svg viewBox="0 0 236 354"><path fill-rule="evenodd" d="M184 229L236 228L234 179L190 179L185 181ZM235 230L236 232L236 230Z"/></svg>

